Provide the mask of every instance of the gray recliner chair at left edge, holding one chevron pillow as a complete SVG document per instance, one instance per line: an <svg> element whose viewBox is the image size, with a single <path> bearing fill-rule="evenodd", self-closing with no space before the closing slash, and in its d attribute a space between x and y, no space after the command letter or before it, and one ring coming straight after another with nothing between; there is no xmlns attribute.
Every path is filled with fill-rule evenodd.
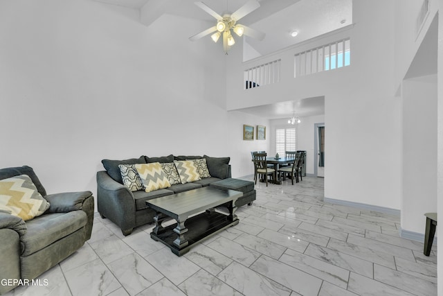
<svg viewBox="0 0 443 296"><path fill-rule="evenodd" d="M46 195L33 168L0 169L0 180L19 175L30 177L50 207L26 222L0 212L0 295L42 275L91 238L94 199L90 191Z"/></svg>

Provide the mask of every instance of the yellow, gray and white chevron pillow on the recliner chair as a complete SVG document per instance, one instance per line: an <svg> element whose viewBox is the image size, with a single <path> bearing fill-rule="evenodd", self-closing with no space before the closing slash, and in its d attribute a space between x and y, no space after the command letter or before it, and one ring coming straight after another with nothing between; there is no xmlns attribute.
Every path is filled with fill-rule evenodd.
<svg viewBox="0 0 443 296"><path fill-rule="evenodd" d="M0 180L0 211L26 221L42 215L49 205L28 175Z"/></svg>

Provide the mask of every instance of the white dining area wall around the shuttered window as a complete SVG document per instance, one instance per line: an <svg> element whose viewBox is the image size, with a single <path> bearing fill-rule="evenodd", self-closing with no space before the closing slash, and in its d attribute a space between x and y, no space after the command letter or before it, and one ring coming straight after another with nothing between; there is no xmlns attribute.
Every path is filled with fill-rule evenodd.
<svg viewBox="0 0 443 296"><path fill-rule="evenodd" d="M269 148L270 155L275 155L275 129L276 128L296 128L296 146L297 150L306 151L306 173L314 174L314 124L324 123L325 115L300 117L300 123L291 125L288 119L273 119L271 120L271 147ZM327 130L327 128L326 128ZM326 152L327 153L327 152ZM325 157L326 159L326 157Z"/></svg>

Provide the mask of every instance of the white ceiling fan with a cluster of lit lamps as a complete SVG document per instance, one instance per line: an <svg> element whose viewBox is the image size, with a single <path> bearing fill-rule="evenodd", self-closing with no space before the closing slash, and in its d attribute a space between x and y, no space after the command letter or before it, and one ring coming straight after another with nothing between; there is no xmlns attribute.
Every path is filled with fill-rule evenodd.
<svg viewBox="0 0 443 296"><path fill-rule="evenodd" d="M202 1L195 2L195 5L199 6L199 8L201 8L202 10L208 12L209 15L215 17L215 19L217 19L217 24L201 33L189 37L191 41L199 40L206 35L213 34L210 37L213 39L214 42L217 42L221 34L223 34L223 50L226 54L228 54L230 46L233 46L235 44L235 40L233 35L231 34L231 31L234 31L234 33L237 34L239 37L244 34L257 40L263 40L265 36L264 33L255 31L253 28L249 28L248 26L244 26L242 24L237 24L237 21L239 19L260 7L260 3L258 3L258 1L256 0L250 0L232 14L225 14L223 16L219 15L217 12L209 8L209 6L207 6Z"/></svg>

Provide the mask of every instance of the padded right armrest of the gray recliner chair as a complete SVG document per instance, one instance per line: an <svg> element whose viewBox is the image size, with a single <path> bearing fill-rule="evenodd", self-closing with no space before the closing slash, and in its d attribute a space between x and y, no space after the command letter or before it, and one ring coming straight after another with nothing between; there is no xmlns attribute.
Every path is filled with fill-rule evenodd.
<svg viewBox="0 0 443 296"><path fill-rule="evenodd" d="M94 220L94 197L91 191L65 192L46 195L50 207L46 213L67 213L69 211L84 211L88 217L85 225L85 240L91 238Z"/></svg>

